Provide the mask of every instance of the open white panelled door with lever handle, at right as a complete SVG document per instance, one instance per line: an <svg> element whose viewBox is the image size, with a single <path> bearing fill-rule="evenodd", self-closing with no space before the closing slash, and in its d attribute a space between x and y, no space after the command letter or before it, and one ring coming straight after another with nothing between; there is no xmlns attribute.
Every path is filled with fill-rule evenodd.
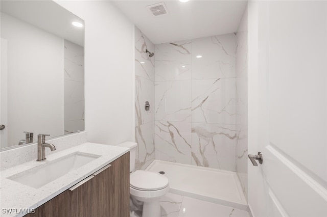
<svg viewBox="0 0 327 217"><path fill-rule="evenodd" d="M248 5L248 203L253 216L327 216L327 2ZM257 161L258 162L258 161Z"/></svg>

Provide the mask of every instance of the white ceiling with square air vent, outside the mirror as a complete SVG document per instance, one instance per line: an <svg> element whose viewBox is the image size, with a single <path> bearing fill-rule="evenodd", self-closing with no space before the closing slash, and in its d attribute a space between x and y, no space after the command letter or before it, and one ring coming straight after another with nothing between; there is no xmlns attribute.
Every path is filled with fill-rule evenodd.
<svg viewBox="0 0 327 217"><path fill-rule="evenodd" d="M247 1L112 1L154 44L235 33ZM164 2L168 14L154 16L148 5Z"/></svg>

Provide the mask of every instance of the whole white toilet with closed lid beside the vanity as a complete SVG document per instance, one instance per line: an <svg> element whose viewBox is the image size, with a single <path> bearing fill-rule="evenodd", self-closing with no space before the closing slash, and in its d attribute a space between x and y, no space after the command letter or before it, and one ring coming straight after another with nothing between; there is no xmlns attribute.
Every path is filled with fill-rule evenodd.
<svg viewBox="0 0 327 217"><path fill-rule="evenodd" d="M164 175L149 171L136 170L135 153L137 143L124 142L118 146L130 149L130 184L129 192L132 198L143 202L142 217L160 217L159 199L169 192L169 181Z"/></svg>

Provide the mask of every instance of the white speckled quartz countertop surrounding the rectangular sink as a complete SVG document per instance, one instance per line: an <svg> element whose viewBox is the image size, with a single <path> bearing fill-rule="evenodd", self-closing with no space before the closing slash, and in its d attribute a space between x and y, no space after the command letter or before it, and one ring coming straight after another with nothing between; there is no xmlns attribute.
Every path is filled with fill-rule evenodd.
<svg viewBox="0 0 327 217"><path fill-rule="evenodd" d="M65 149L63 151L50 154L46 156L46 160L44 161L37 162L36 160L33 160L0 171L0 216L24 216L25 214L27 214L24 209L31 211L32 209L37 208L43 203L56 197L60 193L66 191L73 185L82 181L92 173L110 164L110 162L124 155L128 151L128 148L119 146L84 143L73 148ZM7 178L17 173L32 169L34 167L47 164L50 161L56 160L60 157L74 152L100 155L100 157L39 188L33 188ZM10 210L13 213L8 213L10 212Z"/></svg>

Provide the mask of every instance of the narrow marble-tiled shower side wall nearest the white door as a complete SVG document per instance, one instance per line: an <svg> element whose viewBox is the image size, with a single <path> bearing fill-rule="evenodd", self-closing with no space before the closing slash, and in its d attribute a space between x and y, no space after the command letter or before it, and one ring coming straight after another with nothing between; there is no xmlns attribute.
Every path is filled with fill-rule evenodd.
<svg viewBox="0 0 327 217"><path fill-rule="evenodd" d="M237 31L236 42L236 172L247 198L247 10Z"/></svg>

